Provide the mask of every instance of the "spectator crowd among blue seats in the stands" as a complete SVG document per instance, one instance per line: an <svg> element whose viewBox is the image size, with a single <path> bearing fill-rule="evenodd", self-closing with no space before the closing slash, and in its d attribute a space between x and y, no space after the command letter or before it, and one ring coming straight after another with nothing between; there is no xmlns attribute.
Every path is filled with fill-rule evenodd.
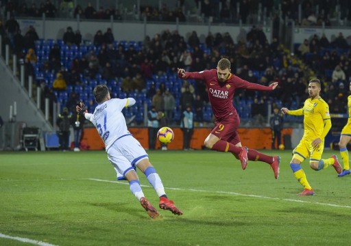
<svg viewBox="0 0 351 246"><path fill-rule="evenodd" d="M247 2L250 1L242 4ZM288 2L284 1L283 5ZM48 0L45 12L54 15L55 6L51 4ZM93 8L90 3L89 8ZM145 13L148 11L152 12L145 9ZM95 11L84 10L86 18L95 18L88 17L89 13ZM294 18L289 11L285 14ZM322 97L330 105L330 111L346 111L345 88L351 76L351 56L350 44L343 33L332 42L326 36L313 36L296 46L295 51L286 49L276 38L269 43L262 27L256 25L237 42L228 32L208 32L204 42L200 42L196 31L184 38L178 31L165 29L154 37L146 36L143 42L123 43L115 40L108 28L97 30L91 43L86 44L80 31L71 27L66 28L61 40L40 40L32 26L23 36L19 23L11 15L5 24L0 24L0 34L3 46L9 44L25 65L25 77L35 77L43 96L53 101L66 103L70 94L75 93L76 100L90 100L93 107L92 86L94 81L103 82L112 90L112 96L136 96L148 107L165 112L169 124L179 124L182 112L189 105L195 122L211 122L205 85L199 81L180 82L176 70L216 68L221 57L228 57L232 72L242 79L262 85L279 82L278 88L270 93L237 92L234 105L244 120L266 124L267 116L272 113L267 111L268 104L272 109L282 105L291 109L300 107L306 98L308 81L315 76L324 82Z"/></svg>

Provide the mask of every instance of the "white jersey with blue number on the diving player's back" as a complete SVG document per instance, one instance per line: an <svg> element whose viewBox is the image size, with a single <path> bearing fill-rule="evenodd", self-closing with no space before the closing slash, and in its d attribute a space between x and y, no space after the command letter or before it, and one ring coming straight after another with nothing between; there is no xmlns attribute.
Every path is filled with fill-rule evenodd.
<svg viewBox="0 0 351 246"><path fill-rule="evenodd" d="M97 128L101 139L105 143L106 151L114 141L131 135L128 131L122 110L135 104L134 98L112 98L97 105L94 113L85 113L85 118Z"/></svg>

